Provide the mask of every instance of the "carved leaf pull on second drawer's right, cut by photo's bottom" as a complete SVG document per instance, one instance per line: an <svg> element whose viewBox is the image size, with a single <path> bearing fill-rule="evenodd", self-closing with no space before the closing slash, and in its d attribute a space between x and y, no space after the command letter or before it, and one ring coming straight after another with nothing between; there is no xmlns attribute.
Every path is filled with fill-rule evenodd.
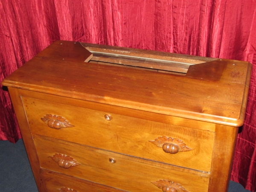
<svg viewBox="0 0 256 192"><path fill-rule="evenodd" d="M182 185L169 180L158 180L156 182L151 182L163 192L188 192Z"/></svg>

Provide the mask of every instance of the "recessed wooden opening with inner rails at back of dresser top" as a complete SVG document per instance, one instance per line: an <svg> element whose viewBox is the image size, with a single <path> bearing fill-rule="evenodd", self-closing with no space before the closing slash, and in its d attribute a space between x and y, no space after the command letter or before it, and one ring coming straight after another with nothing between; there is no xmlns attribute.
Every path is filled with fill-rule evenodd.
<svg viewBox="0 0 256 192"><path fill-rule="evenodd" d="M137 69L143 68L143 70L179 75L186 75L190 65L216 60L215 58L180 55L143 49L106 45L99 46L86 43L81 43L81 45L93 53L93 58L91 58L92 62L119 65L119 67L124 65L126 67L137 67Z"/></svg>

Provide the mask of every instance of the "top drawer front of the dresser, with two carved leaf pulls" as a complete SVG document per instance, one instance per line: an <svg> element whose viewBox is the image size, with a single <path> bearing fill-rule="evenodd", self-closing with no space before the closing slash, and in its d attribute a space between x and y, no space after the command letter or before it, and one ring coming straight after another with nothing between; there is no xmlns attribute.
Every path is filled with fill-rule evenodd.
<svg viewBox="0 0 256 192"><path fill-rule="evenodd" d="M32 133L191 169L210 171L214 141L212 132L113 113L108 119L108 116L105 116L108 112L27 97L23 97L23 105ZM54 120L49 120L46 124L41 118L47 114L62 117L63 119L59 119L60 122L66 119L67 122L64 124L68 127L60 128L60 123ZM149 142L158 137L159 147L155 145L157 143ZM166 141L168 138L169 141ZM189 150L176 151L176 154L164 152L163 148L167 151L168 146L169 151L175 151L172 139L180 140L180 148L185 146L183 149L187 147ZM165 143L167 145L164 145Z"/></svg>

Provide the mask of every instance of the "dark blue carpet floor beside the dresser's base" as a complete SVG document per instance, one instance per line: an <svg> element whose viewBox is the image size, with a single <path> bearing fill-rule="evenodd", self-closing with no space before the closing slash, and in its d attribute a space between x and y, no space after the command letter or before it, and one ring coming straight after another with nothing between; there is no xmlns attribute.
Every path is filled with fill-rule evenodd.
<svg viewBox="0 0 256 192"><path fill-rule="evenodd" d="M0 141L0 191L38 192L23 140L16 144ZM228 192L250 192L230 181Z"/></svg>

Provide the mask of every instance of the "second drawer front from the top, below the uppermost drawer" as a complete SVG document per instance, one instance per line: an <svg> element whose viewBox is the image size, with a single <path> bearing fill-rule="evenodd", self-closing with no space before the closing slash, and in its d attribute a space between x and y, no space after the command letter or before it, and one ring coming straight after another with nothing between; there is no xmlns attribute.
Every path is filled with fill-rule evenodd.
<svg viewBox="0 0 256 192"><path fill-rule="evenodd" d="M164 180L177 182L187 192L207 192L208 178L186 173L183 169L179 172L159 167L156 162L97 148L49 138L34 138L40 166L44 169L132 192L161 192L156 182ZM76 165L61 167L53 157L61 154Z"/></svg>

